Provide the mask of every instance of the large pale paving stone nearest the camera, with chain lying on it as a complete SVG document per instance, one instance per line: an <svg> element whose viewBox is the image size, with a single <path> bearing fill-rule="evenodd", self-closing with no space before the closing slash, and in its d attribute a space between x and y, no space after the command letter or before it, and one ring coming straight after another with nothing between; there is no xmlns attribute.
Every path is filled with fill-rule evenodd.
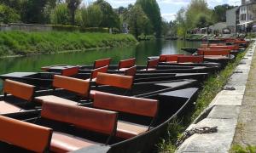
<svg viewBox="0 0 256 153"><path fill-rule="evenodd" d="M205 126L218 126L218 133L194 134L185 140L177 152L228 152L235 133L236 119L206 118L196 125Z"/></svg>

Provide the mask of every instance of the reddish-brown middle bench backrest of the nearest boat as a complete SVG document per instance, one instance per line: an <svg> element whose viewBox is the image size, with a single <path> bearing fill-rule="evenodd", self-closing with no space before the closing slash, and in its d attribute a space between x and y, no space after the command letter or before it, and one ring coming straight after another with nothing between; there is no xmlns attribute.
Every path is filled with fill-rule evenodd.
<svg viewBox="0 0 256 153"><path fill-rule="evenodd" d="M113 111L45 101L41 116L49 120L73 124L89 131L111 135L116 130L118 114Z"/></svg>

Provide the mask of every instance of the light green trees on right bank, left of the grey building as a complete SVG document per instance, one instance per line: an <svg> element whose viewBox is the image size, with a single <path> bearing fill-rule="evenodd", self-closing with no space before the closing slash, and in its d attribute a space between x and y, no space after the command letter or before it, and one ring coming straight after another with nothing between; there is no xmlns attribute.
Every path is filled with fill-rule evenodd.
<svg viewBox="0 0 256 153"><path fill-rule="evenodd" d="M234 8L228 4L208 8L206 0L191 0L187 8L180 8L176 20L170 23L172 33L178 37L187 37L195 29L225 22L226 10Z"/></svg>

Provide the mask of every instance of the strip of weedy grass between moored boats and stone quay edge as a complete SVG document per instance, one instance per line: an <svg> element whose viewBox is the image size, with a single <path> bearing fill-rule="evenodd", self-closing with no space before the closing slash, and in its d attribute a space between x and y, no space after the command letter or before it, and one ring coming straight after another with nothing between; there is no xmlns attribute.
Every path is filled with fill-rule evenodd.
<svg viewBox="0 0 256 153"><path fill-rule="evenodd" d="M160 144L157 144L160 152L174 152L177 149L175 145L177 139L189 127L189 124L207 108L216 94L224 88L224 85L228 82L244 54L238 54L234 62L227 65L223 71L209 77L207 82L204 82L203 89L200 91L199 97L195 102L195 109L184 116L183 119L177 119L170 123L166 138L161 139Z"/></svg>

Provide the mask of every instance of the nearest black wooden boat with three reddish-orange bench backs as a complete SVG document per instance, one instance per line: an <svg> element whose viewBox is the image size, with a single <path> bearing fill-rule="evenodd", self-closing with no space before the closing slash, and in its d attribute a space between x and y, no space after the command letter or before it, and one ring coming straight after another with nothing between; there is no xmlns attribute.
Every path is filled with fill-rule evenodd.
<svg viewBox="0 0 256 153"><path fill-rule="evenodd" d="M7 142L8 139L8 142L11 143L0 143L0 150L4 152L20 152L25 150L55 150L57 152L60 150L73 152L148 152L154 148L154 144L166 133L168 124L175 117L181 117L183 113L191 109L197 91L198 88L185 88L148 96L147 99L137 99L113 94L98 94L96 95L96 103L92 103L92 106L102 110L73 105L44 103L41 117L27 119L24 122L0 117L0 125L8 125L2 127L4 132L14 133L14 130L17 130L22 133L22 138L26 137L27 139L24 139L27 143L20 143L19 139L16 139L12 134L1 136L0 141ZM111 101L115 101L116 105L108 108L106 105L102 105L106 104L104 103L106 98L115 99ZM109 100L106 102L109 103ZM145 110L144 107L131 106L130 103L126 103L127 107L124 108L121 106L124 102L130 102L131 105L138 103L147 108L150 104L150 107L152 107L150 110L152 111ZM108 111L104 111L104 109ZM156 109L158 111L154 111ZM69 112L68 116L67 112ZM117 112L119 117L117 116ZM156 112L158 112L158 117L154 117L156 116ZM88 118L88 116L90 117ZM76 118L76 120L73 120L73 118ZM92 121L98 122L92 123ZM116 127L119 127L120 122L123 121L127 126L139 126L144 130L127 136L125 133L129 133L129 130L122 133L120 128L116 129ZM35 124L38 126L35 126ZM71 124L73 126L70 126ZM45 131L47 131L46 136L40 138L40 140L35 140L38 137L32 138L31 135L33 134L31 133L35 131L34 127L40 129L36 130L37 135L42 137L46 133ZM22 131L22 129L30 130ZM117 132L113 133L115 129ZM67 138L72 139L68 141ZM80 145L74 146L73 144L76 144L78 139ZM29 145L34 142L37 142L38 145ZM58 145L59 142L65 145ZM15 145L18 147L15 147Z"/></svg>

